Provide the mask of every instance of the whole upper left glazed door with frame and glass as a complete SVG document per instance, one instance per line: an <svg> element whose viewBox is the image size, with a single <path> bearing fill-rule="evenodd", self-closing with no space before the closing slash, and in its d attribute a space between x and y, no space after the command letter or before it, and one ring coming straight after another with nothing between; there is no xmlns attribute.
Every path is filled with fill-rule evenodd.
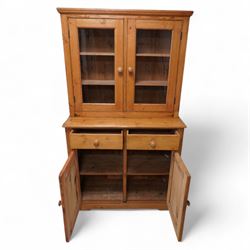
<svg viewBox="0 0 250 250"><path fill-rule="evenodd" d="M121 111L123 20L70 19L76 111Z"/></svg>

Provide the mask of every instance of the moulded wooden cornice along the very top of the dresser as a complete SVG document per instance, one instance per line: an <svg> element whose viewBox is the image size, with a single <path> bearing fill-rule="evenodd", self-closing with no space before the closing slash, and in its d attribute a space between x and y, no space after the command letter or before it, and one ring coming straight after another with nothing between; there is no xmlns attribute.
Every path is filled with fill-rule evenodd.
<svg viewBox="0 0 250 250"><path fill-rule="evenodd" d="M113 10L113 9L81 9L57 8L60 14L104 14L104 15L150 15L150 16L180 16L190 17L193 11L184 10Z"/></svg>

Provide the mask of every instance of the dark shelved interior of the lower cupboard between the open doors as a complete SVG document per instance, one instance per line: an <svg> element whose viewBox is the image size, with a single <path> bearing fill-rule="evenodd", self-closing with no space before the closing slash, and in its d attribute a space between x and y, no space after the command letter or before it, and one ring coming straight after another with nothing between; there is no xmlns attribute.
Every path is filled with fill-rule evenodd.
<svg viewBox="0 0 250 250"><path fill-rule="evenodd" d="M170 160L170 151L78 150L82 200L166 200Z"/></svg>

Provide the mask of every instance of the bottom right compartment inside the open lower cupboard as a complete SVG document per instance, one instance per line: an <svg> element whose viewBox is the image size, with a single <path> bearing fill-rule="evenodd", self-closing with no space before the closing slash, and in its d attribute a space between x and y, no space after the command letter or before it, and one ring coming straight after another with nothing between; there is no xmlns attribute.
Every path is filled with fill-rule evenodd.
<svg viewBox="0 0 250 250"><path fill-rule="evenodd" d="M166 200L167 178L159 176L130 176L128 178L128 201Z"/></svg>

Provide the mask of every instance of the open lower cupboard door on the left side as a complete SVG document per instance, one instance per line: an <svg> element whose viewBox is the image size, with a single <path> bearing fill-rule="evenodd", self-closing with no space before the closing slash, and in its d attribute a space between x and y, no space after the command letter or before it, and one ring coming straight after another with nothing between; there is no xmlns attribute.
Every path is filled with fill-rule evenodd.
<svg viewBox="0 0 250 250"><path fill-rule="evenodd" d="M70 240L80 209L81 189L77 151L71 151L59 175L64 230L66 241Z"/></svg>

